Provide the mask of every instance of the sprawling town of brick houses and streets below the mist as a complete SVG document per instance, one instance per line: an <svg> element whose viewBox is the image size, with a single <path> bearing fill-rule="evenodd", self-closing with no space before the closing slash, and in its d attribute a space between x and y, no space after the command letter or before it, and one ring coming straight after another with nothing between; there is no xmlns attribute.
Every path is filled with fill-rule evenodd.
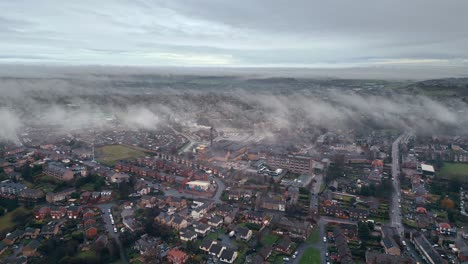
<svg viewBox="0 0 468 264"><path fill-rule="evenodd" d="M468 137L41 133L1 148L2 263L468 261Z"/></svg>

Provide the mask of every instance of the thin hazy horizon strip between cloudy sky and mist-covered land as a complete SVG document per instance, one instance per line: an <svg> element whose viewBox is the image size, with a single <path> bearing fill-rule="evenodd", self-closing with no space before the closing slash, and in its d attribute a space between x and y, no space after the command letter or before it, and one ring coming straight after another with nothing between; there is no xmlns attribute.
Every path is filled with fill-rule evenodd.
<svg viewBox="0 0 468 264"><path fill-rule="evenodd" d="M278 67L278 66L136 66L136 65L57 65L2 64L0 77L58 77L63 75L193 75L248 78L310 78L421 81L467 78L459 66L361 66L361 67Z"/></svg>

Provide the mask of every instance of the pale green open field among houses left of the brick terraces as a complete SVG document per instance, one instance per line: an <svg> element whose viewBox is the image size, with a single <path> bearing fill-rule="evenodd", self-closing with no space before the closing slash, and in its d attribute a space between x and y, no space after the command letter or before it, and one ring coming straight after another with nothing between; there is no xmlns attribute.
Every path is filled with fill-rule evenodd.
<svg viewBox="0 0 468 264"><path fill-rule="evenodd" d="M139 148L124 145L108 145L96 149L97 160L108 166L114 166L120 160L133 160L146 156Z"/></svg>

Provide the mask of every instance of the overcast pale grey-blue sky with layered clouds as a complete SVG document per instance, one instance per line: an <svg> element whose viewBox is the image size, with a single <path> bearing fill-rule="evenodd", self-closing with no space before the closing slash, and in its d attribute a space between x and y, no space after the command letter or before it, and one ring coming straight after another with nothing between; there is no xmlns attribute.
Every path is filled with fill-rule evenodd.
<svg viewBox="0 0 468 264"><path fill-rule="evenodd" d="M0 0L0 64L468 66L468 1Z"/></svg>

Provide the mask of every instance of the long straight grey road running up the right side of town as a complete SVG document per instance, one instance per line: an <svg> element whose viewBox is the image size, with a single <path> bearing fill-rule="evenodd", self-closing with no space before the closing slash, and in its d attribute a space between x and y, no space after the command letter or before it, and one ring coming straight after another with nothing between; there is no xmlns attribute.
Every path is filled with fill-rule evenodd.
<svg viewBox="0 0 468 264"><path fill-rule="evenodd" d="M407 138L406 134L399 136L392 144L392 177L393 177L393 193L391 201L391 212L390 212L390 225L398 230L398 233L403 236L404 228L401 223L401 187L400 187L400 143L404 138Z"/></svg>

